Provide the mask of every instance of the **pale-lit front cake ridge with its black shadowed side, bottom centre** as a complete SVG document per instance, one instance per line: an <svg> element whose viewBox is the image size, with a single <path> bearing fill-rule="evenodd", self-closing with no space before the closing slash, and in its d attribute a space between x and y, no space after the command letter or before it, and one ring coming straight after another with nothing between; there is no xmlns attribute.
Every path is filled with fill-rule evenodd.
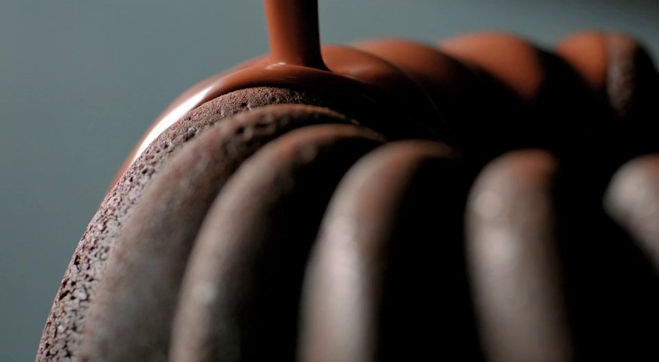
<svg viewBox="0 0 659 362"><path fill-rule="evenodd" d="M461 240L467 182L439 143L380 147L328 206L305 277L300 361L477 361Z"/></svg>

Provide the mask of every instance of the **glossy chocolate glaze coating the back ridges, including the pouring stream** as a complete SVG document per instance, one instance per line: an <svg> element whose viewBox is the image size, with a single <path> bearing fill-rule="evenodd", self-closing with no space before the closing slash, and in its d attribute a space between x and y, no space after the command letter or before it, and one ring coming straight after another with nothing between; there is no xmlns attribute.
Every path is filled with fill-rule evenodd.
<svg viewBox="0 0 659 362"><path fill-rule="evenodd" d="M256 86L317 93L354 108L356 119L390 138L440 139L477 165L523 147L573 154L600 147L596 143L610 137L593 135L592 130L604 132L596 120L607 110L601 107L597 89L612 73L602 45L612 43L611 36L586 34L566 47L567 53L559 48L558 55L500 32L459 36L439 49L393 39L321 47L317 1L264 0L264 5L270 55L183 93L152 125L122 169L190 110L233 90ZM625 103L627 98L616 101ZM586 138L591 139L584 143Z"/></svg>

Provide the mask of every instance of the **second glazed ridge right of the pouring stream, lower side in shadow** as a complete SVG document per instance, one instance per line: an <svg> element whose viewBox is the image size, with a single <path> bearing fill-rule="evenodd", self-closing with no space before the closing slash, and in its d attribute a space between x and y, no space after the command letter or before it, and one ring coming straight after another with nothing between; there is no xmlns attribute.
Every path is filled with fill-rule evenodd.
<svg viewBox="0 0 659 362"><path fill-rule="evenodd" d="M396 64L424 88L440 110L461 156L475 169L524 145L520 131L528 122L527 107L491 75L439 49L408 40L367 40L356 47Z"/></svg>

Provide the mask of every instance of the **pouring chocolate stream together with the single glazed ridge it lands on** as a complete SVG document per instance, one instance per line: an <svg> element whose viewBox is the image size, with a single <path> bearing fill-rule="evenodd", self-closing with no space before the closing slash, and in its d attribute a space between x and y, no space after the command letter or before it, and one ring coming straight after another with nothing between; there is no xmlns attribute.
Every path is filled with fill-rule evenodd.
<svg viewBox="0 0 659 362"><path fill-rule="evenodd" d="M446 128L428 94L394 64L360 49L320 47L317 1L264 0L264 5L270 56L210 77L183 93L155 121L131 161L185 113L233 90L256 86L304 88L360 108L389 108L381 113L402 114L411 123L421 123L417 127L420 131L412 131L417 136L446 137ZM397 44L391 47L395 49ZM427 51L434 50L427 47ZM401 127L408 125L402 123Z"/></svg>

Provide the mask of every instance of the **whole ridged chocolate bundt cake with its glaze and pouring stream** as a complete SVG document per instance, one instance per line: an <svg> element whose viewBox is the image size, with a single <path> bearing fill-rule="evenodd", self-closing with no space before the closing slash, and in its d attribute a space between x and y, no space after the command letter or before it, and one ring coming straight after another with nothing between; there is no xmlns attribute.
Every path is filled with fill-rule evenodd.
<svg viewBox="0 0 659 362"><path fill-rule="evenodd" d="M496 32L270 55L127 158L37 361L656 359L659 75L636 40Z"/></svg>

